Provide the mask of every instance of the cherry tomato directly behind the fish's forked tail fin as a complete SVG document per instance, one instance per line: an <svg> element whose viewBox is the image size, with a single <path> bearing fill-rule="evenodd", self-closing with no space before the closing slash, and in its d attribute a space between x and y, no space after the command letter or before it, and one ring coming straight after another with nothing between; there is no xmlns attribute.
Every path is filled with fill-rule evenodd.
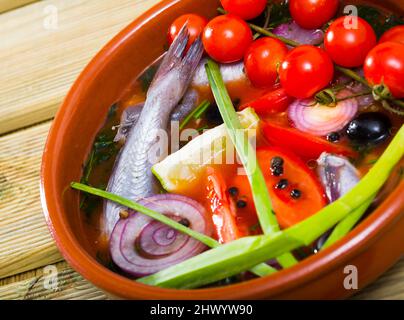
<svg viewBox="0 0 404 320"><path fill-rule="evenodd" d="M188 48L191 44L202 34L208 20L197 14L184 14L177 18L168 30L168 43L173 43L174 39L178 36L185 23L188 23L187 28L189 32Z"/></svg>

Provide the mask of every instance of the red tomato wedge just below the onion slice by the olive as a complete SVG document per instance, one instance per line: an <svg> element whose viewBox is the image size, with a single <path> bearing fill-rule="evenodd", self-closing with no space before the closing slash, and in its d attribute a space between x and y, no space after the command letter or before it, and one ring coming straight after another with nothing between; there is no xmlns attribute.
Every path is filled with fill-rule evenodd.
<svg viewBox="0 0 404 320"><path fill-rule="evenodd" d="M357 156L351 148L273 123L266 122L262 126L262 132L271 145L293 150L305 160L317 159L323 152L351 157Z"/></svg>

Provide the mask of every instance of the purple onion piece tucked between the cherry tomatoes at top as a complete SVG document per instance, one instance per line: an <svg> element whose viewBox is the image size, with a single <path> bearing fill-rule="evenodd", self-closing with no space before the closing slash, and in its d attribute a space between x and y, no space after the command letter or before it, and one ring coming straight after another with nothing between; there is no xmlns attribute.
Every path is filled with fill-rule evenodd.
<svg viewBox="0 0 404 320"><path fill-rule="evenodd" d="M273 31L277 36L296 41L300 44L318 45L324 40L324 32L321 29L307 30L299 27L295 22L283 23Z"/></svg>

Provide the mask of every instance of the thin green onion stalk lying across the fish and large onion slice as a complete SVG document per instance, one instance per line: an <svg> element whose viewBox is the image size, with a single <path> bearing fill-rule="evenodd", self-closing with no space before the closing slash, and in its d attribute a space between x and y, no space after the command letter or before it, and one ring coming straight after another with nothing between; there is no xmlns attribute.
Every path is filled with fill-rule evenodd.
<svg viewBox="0 0 404 320"><path fill-rule="evenodd" d="M101 189L93 188L93 187L90 187L88 185L78 183L78 182L73 182L71 184L71 187L73 189L76 189L76 190L79 190L79 191L82 191L82 192L85 192L88 194L99 196L106 200L114 201L117 204L120 204L124 207L127 207L127 208L133 209L137 212L143 213L144 215L146 215L154 220L160 221L161 223L164 223L165 225L202 242L203 244L205 244L206 246L208 246L210 248L216 248L216 247L220 246L220 243L217 242L215 239L212 239L203 233L194 231L191 228L188 228L157 211L154 211L145 206L142 206L141 204L139 204L137 202L128 200L126 198L115 195L113 193L110 193L110 192L107 192L107 191L104 191ZM256 267L251 268L250 271L257 276L264 277L264 276L267 276L269 274L276 272L277 270L265 263L261 263L260 265L257 265Z"/></svg>

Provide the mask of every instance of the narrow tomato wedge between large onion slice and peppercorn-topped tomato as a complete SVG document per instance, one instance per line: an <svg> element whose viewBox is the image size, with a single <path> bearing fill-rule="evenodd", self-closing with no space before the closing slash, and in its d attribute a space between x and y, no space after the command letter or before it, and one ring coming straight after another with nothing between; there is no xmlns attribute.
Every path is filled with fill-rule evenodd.
<svg viewBox="0 0 404 320"><path fill-rule="evenodd" d="M228 193L224 178L218 170L208 167L207 199L212 211L217 239L227 243L248 235L248 226L239 225L236 219L236 204Z"/></svg>

